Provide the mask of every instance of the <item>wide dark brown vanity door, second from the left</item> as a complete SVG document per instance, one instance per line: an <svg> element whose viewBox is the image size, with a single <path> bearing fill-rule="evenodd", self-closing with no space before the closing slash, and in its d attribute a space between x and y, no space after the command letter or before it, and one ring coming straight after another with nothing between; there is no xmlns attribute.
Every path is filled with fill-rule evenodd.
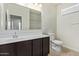
<svg viewBox="0 0 79 59"><path fill-rule="evenodd" d="M31 56L32 55L32 41L23 41L16 43L18 56Z"/></svg>

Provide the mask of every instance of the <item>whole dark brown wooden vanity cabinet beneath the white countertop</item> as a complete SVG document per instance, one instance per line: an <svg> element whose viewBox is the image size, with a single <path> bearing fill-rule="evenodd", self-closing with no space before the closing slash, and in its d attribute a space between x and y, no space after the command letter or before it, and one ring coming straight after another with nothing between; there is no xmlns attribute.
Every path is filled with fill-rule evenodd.
<svg viewBox="0 0 79 59"><path fill-rule="evenodd" d="M0 56L47 56L48 53L49 36L0 44Z"/></svg>

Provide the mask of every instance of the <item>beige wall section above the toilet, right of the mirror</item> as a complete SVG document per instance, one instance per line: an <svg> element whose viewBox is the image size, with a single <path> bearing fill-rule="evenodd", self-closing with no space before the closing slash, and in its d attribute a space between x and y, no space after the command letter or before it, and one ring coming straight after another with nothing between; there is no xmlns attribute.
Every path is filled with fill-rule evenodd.
<svg viewBox="0 0 79 59"><path fill-rule="evenodd" d="M44 33L56 33L57 6L52 3L42 4L42 30Z"/></svg>

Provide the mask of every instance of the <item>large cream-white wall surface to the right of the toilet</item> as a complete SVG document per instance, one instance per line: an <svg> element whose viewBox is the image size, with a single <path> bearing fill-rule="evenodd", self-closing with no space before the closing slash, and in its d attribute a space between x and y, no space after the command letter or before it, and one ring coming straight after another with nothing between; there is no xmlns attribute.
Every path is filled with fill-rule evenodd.
<svg viewBox="0 0 79 59"><path fill-rule="evenodd" d="M75 24L79 22L79 12L67 14L64 16L62 16L61 14L61 10L69 8L74 5L75 4L73 3L61 4L58 6L57 37L58 39L63 41L63 46L79 52L79 27L78 24ZM78 9L78 7L73 8L73 10Z"/></svg>

